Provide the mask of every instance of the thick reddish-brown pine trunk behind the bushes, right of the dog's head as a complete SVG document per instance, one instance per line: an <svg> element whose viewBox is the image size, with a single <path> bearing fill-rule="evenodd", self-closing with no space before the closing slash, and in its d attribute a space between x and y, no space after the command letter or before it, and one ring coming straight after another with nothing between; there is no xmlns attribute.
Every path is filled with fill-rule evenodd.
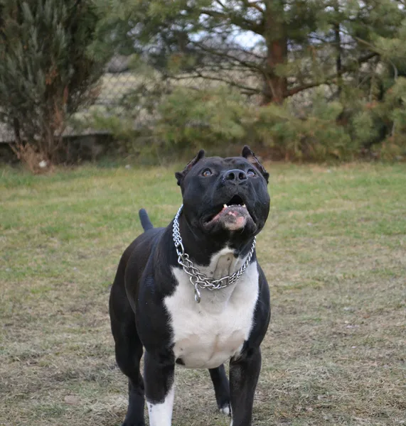
<svg viewBox="0 0 406 426"><path fill-rule="evenodd" d="M272 1L267 4L264 32L267 43L267 72L264 76L263 104L282 104L287 97L287 77L277 75L276 71L278 65L287 63L287 37L281 19L283 13L282 2Z"/></svg>

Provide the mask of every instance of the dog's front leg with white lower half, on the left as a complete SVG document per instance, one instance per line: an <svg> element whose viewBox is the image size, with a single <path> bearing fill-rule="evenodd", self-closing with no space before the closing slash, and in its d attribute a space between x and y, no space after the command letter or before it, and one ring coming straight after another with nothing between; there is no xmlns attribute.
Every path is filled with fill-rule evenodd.
<svg viewBox="0 0 406 426"><path fill-rule="evenodd" d="M172 356L145 353L144 383L150 426L171 426L175 395L175 363Z"/></svg>

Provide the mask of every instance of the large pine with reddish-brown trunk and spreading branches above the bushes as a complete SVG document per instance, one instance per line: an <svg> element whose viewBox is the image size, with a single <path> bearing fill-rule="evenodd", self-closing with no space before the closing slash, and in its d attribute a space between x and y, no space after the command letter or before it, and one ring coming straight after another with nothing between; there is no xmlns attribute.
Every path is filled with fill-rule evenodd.
<svg viewBox="0 0 406 426"><path fill-rule="evenodd" d="M260 94L263 104L340 86L406 17L396 0L104 0L101 8L99 33L114 48L171 77Z"/></svg>

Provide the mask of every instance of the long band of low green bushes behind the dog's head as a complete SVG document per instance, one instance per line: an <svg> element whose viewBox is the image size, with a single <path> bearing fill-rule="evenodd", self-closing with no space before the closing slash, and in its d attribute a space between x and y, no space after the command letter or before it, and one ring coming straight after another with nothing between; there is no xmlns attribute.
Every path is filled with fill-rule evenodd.
<svg viewBox="0 0 406 426"><path fill-rule="evenodd" d="M275 159L400 160L406 158L405 81L399 77L380 102L346 87L340 99L328 100L326 88L319 87L305 100L262 107L225 85L197 90L174 82L149 96L144 84L142 96L126 95L120 114L95 115L92 126L109 129L122 146L144 155L201 147L220 155L233 144L250 143Z"/></svg>

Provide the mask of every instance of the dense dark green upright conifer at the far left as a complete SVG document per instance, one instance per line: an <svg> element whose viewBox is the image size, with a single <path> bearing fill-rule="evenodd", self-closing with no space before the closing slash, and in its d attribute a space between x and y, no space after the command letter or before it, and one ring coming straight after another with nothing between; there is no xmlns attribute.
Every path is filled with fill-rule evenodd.
<svg viewBox="0 0 406 426"><path fill-rule="evenodd" d="M58 160L68 117L94 97L96 24L90 0L0 0L0 119L44 160Z"/></svg>

